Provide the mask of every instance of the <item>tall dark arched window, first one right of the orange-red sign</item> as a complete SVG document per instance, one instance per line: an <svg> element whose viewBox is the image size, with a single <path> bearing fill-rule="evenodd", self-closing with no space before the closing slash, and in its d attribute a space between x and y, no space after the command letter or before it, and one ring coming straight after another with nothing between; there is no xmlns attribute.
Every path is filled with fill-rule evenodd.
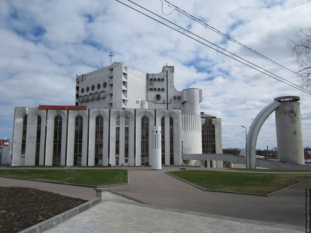
<svg viewBox="0 0 311 233"><path fill-rule="evenodd" d="M96 117L95 123L95 161L94 165L103 165L103 130L104 118Z"/></svg>

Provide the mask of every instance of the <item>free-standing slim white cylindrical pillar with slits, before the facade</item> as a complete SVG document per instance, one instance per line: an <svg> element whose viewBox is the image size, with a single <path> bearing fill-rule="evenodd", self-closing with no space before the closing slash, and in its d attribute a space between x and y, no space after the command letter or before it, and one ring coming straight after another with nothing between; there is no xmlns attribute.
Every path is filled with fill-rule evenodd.
<svg viewBox="0 0 311 233"><path fill-rule="evenodd" d="M152 127L151 137L151 168L152 170L161 170L161 126Z"/></svg>

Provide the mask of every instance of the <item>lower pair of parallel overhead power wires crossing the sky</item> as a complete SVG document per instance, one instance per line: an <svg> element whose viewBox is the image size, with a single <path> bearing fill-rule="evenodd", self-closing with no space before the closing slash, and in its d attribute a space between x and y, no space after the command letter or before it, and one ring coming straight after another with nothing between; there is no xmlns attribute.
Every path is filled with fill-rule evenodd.
<svg viewBox="0 0 311 233"><path fill-rule="evenodd" d="M129 6L129 5L125 4L125 3L123 3L123 2L121 2L121 1L119 1L119 0L116 0L116 1L117 1L117 2L120 2L121 4L123 4L123 5L127 6L127 7L129 7L129 8L131 8L131 9L133 9L133 10L135 10L135 11L137 11L137 12L139 12L139 13L141 13L141 14L143 14L143 15L145 15L145 16L147 16L147 17L149 17L149 18L151 18L151 19L153 19L153 20L155 20L155 21L157 21L157 22L159 22L159 23L161 23L161 24L163 24L163 25L165 25L165 26L167 26L167 27L169 27L169 28L171 28L171 29L173 29L173 30L175 30L175 31L177 31L177 32L179 32L179 33L181 33L181 34L183 34L183 35L185 35L185 36L187 36L187 37L189 37L189 38L191 38L191 39L193 39L193 40L199 42L199 43L201 43L201 44L203 44L203 45L205 45L205 46L207 46L207 47L209 47L209 48L211 48L211 49L216 50L216 51L219 52L219 53L224 54L224 55L227 56L227 57L230 57L230 58L232 58L232 59L234 59L234 60L236 60L236 61L238 61L238 62L240 62L240 63L242 63L242 64L244 64L244 65L246 65L246 66L248 66L248 67L250 67L250 68L253 68L254 70L257 70L257 71L259 71L259 72L261 72L261 73L263 73L263 74L265 74L265 75L268 75L268 76L270 76L270 77L272 77L272 78L274 78L274 79L276 79L276 80L278 80L278 81L280 81L280 82L282 82L282 83L285 83L285 84L287 84L287 85L290 85L291 87L294 87L294 88L296 88L296 89L299 89L299 90L301 90L301 91L303 91L303 92L305 92L305 93L307 93L307 94L311 94L311 91L309 91L309 90L307 90L307 89L304 89L304 88L302 88L301 86L296 85L296 84L294 84L294 83L292 83L292 82L290 82L290 81L288 81L288 80L285 80L285 79L281 78L280 76L275 75L275 74L271 73L270 71L267 71L267 70L263 69L262 67L257 66L257 65L255 65L255 64L253 64L252 62L249 62L249 61L243 59L242 57L239 57L239 56L235 55L234 53L231 53L231 52L225 50L224 48L221 48L220 46L218 46L218 45L216 45L216 44L214 44L214 43L211 43L210 41L208 41L208 40L206 40L206 39L204 39L204 38L198 36L197 34L194 34L194 33L190 32L190 31L187 30L187 29L184 29L183 27L181 27L181 26L179 26L179 25L177 25L177 24L175 24L175 23L173 23L173 22L171 22L171 21L169 21L169 20L167 20L167 19L165 19L165 18L163 18L163 17L157 15L156 13L154 13L154 12L152 12L152 11L149 11L148 9L146 9L146 8L144 8L144 7L140 6L140 5L138 5L138 4L135 3L135 2L132 2L132 1L130 1L130 0L127 0L128 2L131 2L132 4L134 4L134 5L136 5L136 6L140 7L140 8L142 8L142 9L148 11L148 12L150 12L151 14L158 16L159 18L161 18L161 19L163 19L163 20L165 20L165 21L167 21L167 22L169 22L169 23L171 23L171 24L173 24L173 25L179 27L180 29L182 29L182 30L184 30L184 31L187 31L188 33L190 33L190 34L192 34L192 35L194 35L194 36L196 36L196 37L198 37L198 38L200 38L200 39L203 39L204 41L206 41L206 42L208 42L208 43L210 43L210 44L216 46L217 48L220 48L220 49L224 50L224 51L227 52L227 53L230 53L231 55L233 55L233 56L235 56L235 57L238 57L239 59L241 59L241 60L243 60L243 61L245 61L245 62L248 62L249 64L251 64L251 65L253 65L253 66L258 67L258 68L261 69L261 70L255 68L255 67L253 67L253 66L251 66L251 65L249 65L249 64L247 64L247 63L245 63L245 62L242 62L242 61L240 61L240 60L238 60L238 59L236 59L236 58L234 58L234 57L231 57L230 55L228 55L228 54L226 54L226 53L223 53L223 52L217 50L216 48L213 48L213 47L207 45L206 43L203 43L202 41L200 41L200 40L198 40L198 39L195 39L195 38L193 38L193 37L191 37L191 36L189 36L189 35L183 33L182 31L179 31L179 30L173 28L172 26L169 26L169 25L167 25L167 24L165 24L165 23L163 23L163 22L161 22L161 21L159 21L159 20L157 20L157 19L155 19L155 18L153 18L153 17L151 17L151 16L149 16L149 15L147 15L147 14L145 14L145 13L143 13L143 12L141 12L141 11L139 11L139 10L137 10L137 9L135 9L135 8L133 8L133 7L131 7L131 6ZM263 70L263 71L262 71L262 70ZM264 71L270 73L271 75L265 73ZM272 76L272 75L274 75L275 77ZM280 78L281 80L278 79L278 78L276 78L276 77ZM283 80L284 80L284 81L283 81ZM285 82L285 81L286 81L286 82ZM304 90L303 90L303 89L304 89Z"/></svg>

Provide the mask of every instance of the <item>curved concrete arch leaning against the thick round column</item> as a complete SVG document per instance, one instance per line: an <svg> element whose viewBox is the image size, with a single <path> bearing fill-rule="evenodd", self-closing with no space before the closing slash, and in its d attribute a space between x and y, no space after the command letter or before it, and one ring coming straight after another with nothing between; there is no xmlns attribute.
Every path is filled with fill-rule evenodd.
<svg viewBox="0 0 311 233"><path fill-rule="evenodd" d="M257 144L257 138L259 131L263 125L263 123L267 120L267 118L271 115L274 110L280 106L279 101L274 101L264 107L255 117L255 119L252 122L252 126L247 134L247 154L251 156L248 156L247 159L247 168L256 168L256 144Z"/></svg>

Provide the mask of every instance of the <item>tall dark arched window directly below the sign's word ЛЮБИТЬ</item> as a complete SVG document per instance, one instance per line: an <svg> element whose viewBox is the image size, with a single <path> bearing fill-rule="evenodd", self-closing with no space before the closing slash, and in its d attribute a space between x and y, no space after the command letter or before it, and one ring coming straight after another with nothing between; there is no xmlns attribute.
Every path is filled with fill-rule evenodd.
<svg viewBox="0 0 311 233"><path fill-rule="evenodd" d="M73 165L74 166L81 166L82 133L83 133L83 118L76 117L75 141L74 141L74 150L73 150Z"/></svg>

